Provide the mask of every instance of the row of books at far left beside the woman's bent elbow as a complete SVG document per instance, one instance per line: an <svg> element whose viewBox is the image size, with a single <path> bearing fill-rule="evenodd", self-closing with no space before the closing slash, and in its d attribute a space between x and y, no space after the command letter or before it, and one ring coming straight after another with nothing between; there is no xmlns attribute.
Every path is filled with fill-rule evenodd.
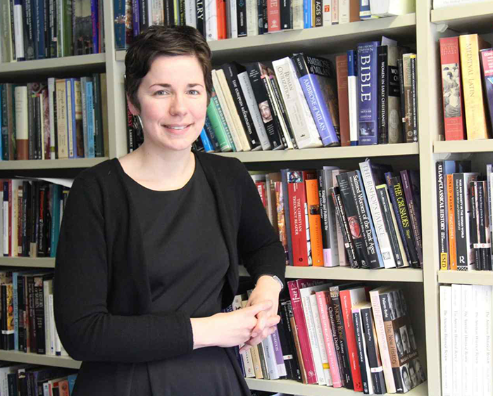
<svg viewBox="0 0 493 396"><path fill-rule="evenodd" d="M1 350L68 356L56 331L52 269L0 272Z"/></svg>

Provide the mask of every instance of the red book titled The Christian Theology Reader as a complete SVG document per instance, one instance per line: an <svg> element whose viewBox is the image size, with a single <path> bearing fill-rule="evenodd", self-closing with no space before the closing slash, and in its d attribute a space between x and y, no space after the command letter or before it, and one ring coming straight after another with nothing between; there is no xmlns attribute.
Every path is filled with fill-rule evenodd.
<svg viewBox="0 0 493 396"><path fill-rule="evenodd" d="M305 180L316 179L316 176L316 172L313 171L289 170L287 172L293 265L297 267L312 265Z"/></svg>

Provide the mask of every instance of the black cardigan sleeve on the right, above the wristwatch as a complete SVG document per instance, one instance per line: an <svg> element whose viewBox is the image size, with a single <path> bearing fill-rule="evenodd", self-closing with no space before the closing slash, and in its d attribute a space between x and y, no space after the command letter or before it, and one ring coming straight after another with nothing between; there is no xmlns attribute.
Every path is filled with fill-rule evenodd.
<svg viewBox="0 0 493 396"><path fill-rule="evenodd" d="M239 164L242 205L239 213L238 249L252 279L262 274L285 279L285 253L263 207L258 191L243 164Z"/></svg>

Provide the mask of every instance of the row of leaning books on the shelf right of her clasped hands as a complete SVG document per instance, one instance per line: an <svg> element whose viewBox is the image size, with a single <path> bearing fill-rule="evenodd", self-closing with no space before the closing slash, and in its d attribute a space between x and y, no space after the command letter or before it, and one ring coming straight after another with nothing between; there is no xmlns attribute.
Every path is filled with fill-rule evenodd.
<svg viewBox="0 0 493 396"><path fill-rule="evenodd" d="M277 331L241 355L247 378L287 378L367 395L404 393L425 381L402 290L308 279L287 286ZM246 298L238 295L232 309Z"/></svg>

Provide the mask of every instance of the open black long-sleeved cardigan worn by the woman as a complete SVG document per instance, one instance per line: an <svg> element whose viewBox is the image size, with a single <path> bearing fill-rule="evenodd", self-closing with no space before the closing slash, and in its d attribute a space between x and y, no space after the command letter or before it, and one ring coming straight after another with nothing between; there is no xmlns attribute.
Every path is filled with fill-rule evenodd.
<svg viewBox="0 0 493 396"><path fill-rule="evenodd" d="M240 260L253 279L275 274L284 281L284 250L244 165L219 155L196 153L196 158L216 198L230 255L225 307L237 290ZM193 349L186 314L148 313L151 290L135 210L145 203L132 200L116 161L75 179L58 242L55 320L65 350L85 362L77 395L128 395L132 363Z"/></svg>

